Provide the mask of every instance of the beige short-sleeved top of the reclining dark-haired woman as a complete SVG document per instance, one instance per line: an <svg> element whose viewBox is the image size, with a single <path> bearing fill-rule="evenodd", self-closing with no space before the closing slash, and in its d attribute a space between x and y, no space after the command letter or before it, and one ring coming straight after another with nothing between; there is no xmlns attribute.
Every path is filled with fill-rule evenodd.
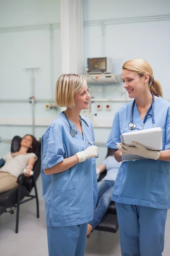
<svg viewBox="0 0 170 256"><path fill-rule="evenodd" d="M23 170L26 169L28 160L31 157L35 157L35 160L37 160L37 156L34 153L20 154L16 157L12 157L11 152L9 152L3 157L5 164L0 168L0 172L9 172L18 177L21 173L23 173Z"/></svg>

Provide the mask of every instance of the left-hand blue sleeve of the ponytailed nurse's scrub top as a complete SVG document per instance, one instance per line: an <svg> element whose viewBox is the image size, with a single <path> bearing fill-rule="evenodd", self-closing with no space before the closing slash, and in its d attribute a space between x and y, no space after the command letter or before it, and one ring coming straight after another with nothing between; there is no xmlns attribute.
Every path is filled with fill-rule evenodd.
<svg viewBox="0 0 170 256"><path fill-rule="evenodd" d="M119 125L119 113L116 112L113 119L111 133L106 143L106 147L117 149L116 143L121 143L120 136L121 136L121 133L120 133L120 125Z"/></svg>

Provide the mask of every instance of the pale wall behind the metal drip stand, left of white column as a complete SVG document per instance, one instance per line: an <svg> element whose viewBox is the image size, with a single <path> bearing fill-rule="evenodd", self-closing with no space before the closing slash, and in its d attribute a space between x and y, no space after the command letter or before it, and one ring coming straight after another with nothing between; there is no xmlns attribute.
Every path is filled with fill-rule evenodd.
<svg viewBox="0 0 170 256"><path fill-rule="evenodd" d="M0 0L0 17L0 99L31 97L31 72L23 71L31 67L40 68L34 74L35 99L54 99L55 81L61 73L60 0ZM58 24L53 29L53 64L50 24ZM16 134L32 133L31 108L28 102L0 103L0 137L11 139ZM46 120L48 125L57 115L56 111L45 111L45 103L35 104L37 124ZM6 123L12 126L3 125ZM27 125L20 126L22 123ZM36 126L35 137L40 138L47 127ZM9 148L0 143L0 155Z"/></svg>

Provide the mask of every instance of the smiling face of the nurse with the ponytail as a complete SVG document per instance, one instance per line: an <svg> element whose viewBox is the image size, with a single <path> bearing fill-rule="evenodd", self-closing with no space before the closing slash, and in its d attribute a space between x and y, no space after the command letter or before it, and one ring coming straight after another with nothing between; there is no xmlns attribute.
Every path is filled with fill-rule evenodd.
<svg viewBox="0 0 170 256"><path fill-rule="evenodd" d="M122 81L124 88L127 90L130 98L136 98L141 94L145 94L148 87L149 75L139 76L138 73L127 69L122 70Z"/></svg>

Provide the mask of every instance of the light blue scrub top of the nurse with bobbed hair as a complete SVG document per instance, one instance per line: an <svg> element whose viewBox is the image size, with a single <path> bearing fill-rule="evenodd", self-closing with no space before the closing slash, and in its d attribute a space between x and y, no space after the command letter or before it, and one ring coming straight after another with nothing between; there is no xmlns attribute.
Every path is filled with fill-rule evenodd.
<svg viewBox="0 0 170 256"><path fill-rule="evenodd" d="M94 133L91 121L85 116L82 118ZM60 227L86 223L93 219L93 211L96 207L95 158L77 163L65 172L45 175L43 171L91 146L73 122L71 125L77 130L75 137L70 134L71 129L65 115L60 113L42 136L42 195L45 200L47 226ZM90 129L83 121L82 126L88 140L94 141Z"/></svg>

